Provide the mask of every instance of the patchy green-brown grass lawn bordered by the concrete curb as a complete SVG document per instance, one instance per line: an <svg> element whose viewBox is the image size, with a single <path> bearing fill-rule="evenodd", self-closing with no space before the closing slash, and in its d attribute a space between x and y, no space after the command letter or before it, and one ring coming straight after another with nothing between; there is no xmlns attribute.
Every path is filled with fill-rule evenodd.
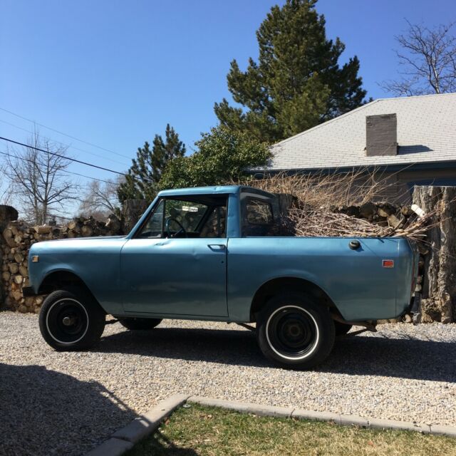
<svg viewBox="0 0 456 456"><path fill-rule="evenodd" d="M178 409L155 434L126 455L456 456L456 440L418 432L243 415L191 404Z"/></svg>

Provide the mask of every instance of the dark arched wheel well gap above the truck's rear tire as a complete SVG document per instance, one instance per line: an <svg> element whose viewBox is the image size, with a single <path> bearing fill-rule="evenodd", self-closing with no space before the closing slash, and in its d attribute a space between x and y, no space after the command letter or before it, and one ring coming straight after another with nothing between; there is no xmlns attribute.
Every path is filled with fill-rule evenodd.
<svg viewBox="0 0 456 456"><path fill-rule="evenodd" d="M250 321L256 321L256 314L263 308L266 302L279 291L305 291L311 294L323 305L328 306L333 311L338 312L336 305L331 298L316 284L305 279L296 279L296 277L281 277L280 279L273 279L261 287L255 293L252 305L250 307Z"/></svg>

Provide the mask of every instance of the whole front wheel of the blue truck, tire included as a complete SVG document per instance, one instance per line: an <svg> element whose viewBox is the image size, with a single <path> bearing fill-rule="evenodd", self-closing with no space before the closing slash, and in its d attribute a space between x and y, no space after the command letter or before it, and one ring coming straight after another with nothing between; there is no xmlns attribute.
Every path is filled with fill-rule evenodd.
<svg viewBox="0 0 456 456"><path fill-rule="evenodd" d="M39 327L44 340L57 351L86 350L100 340L105 313L84 290L53 291L41 307Z"/></svg>

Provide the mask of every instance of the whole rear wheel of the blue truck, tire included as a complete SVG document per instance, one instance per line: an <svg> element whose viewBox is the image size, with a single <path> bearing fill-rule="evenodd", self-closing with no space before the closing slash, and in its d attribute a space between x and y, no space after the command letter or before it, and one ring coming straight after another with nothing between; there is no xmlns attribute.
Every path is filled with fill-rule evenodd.
<svg viewBox="0 0 456 456"><path fill-rule="evenodd" d="M299 293L271 298L257 319L257 341L276 365L306 369L321 363L334 344L334 325L328 309Z"/></svg>

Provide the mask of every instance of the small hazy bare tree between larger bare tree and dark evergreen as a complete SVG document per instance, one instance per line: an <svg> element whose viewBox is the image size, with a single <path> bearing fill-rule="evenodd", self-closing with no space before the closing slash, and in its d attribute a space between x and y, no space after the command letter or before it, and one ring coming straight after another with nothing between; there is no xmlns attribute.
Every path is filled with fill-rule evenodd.
<svg viewBox="0 0 456 456"><path fill-rule="evenodd" d="M86 217L105 219L109 214L120 214L117 189L120 183L125 182L125 177L118 176L115 180L100 182L93 180L88 184L79 212Z"/></svg>

